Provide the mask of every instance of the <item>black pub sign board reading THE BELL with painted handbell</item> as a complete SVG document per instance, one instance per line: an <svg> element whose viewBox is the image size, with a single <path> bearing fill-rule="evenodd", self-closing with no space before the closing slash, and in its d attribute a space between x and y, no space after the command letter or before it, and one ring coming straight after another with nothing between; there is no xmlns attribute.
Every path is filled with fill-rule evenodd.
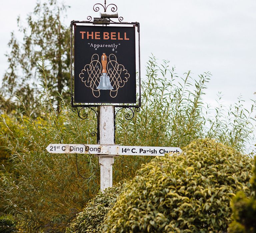
<svg viewBox="0 0 256 233"><path fill-rule="evenodd" d="M135 25L74 27L72 104L133 104L136 97ZM140 87L139 87L140 88ZM82 103L82 105L81 105Z"/></svg>

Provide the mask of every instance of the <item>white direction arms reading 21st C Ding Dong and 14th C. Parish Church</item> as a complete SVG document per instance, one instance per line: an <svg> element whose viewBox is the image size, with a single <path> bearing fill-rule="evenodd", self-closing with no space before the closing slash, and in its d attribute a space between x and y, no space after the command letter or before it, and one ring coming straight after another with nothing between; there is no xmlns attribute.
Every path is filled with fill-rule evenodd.
<svg viewBox="0 0 256 233"><path fill-rule="evenodd" d="M181 153L179 147L161 146L120 146L120 145L84 145L84 144L49 144L47 151L54 154L105 154L105 155L151 155L164 156L166 153Z"/></svg>

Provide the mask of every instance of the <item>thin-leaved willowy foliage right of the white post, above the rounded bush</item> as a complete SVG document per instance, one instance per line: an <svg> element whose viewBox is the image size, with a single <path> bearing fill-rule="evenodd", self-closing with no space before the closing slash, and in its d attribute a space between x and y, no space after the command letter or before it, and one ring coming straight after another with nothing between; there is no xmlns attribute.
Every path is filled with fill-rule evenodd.
<svg viewBox="0 0 256 233"><path fill-rule="evenodd" d="M125 120L125 113L117 116L116 143L138 146L178 146L182 148L198 138L215 138L238 151L247 153L255 132L255 100L251 109L238 99L230 107L221 104L212 108L203 97L211 75L203 73L197 78L190 71L179 77L168 61L159 64L150 58L146 77L141 85L140 112L131 120ZM119 156L114 163L114 178L134 177L141 163L151 157ZM121 172L120 172L121 171Z"/></svg>

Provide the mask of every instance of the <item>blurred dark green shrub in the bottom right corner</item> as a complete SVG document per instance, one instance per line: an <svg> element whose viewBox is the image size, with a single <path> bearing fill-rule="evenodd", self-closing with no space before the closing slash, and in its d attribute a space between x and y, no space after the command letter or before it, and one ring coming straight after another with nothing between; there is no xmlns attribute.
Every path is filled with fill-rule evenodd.
<svg viewBox="0 0 256 233"><path fill-rule="evenodd" d="M256 232L256 156L254 157L254 175L251 179L254 196L247 198L239 192L232 200L233 222L229 225L230 233Z"/></svg>

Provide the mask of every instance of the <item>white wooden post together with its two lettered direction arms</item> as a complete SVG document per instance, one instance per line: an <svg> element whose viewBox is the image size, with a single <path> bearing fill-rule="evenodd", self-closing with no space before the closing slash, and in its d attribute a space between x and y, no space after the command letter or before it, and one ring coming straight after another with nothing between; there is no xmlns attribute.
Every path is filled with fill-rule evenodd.
<svg viewBox="0 0 256 233"><path fill-rule="evenodd" d="M112 106L100 107L99 123L101 144L49 144L46 149L49 153L97 154L100 163L100 189L102 192L112 186L112 165L115 156L164 156L182 152L179 147L114 145L114 107Z"/></svg>

